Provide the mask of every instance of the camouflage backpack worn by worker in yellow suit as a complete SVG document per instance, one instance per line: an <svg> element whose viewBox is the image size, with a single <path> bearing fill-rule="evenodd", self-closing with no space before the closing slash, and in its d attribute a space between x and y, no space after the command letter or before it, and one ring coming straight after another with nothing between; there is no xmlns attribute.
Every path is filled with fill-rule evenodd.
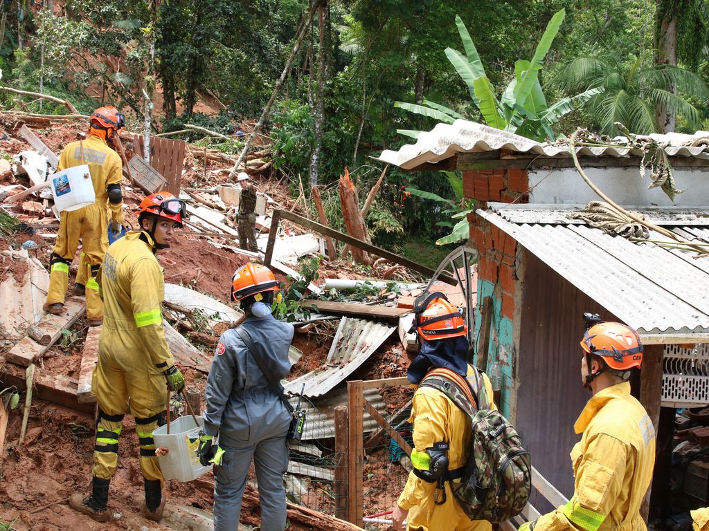
<svg viewBox="0 0 709 531"><path fill-rule="evenodd" d="M530 454L510 422L490 408L476 367L474 378L452 370L428 372L420 386L438 389L462 409L472 423L469 453L462 469L450 471L453 496L471 520L501 523L522 512L532 489ZM472 388L472 392L471 392ZM480 408L476 408L477 396Z"/></svg>

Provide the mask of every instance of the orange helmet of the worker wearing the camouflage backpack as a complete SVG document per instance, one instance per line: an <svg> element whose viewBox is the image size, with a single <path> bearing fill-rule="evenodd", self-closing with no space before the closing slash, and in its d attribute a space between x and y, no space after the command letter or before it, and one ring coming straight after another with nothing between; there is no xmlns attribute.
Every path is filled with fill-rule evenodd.
<svg viewBox="0 0 709 531"><path fill-rule="evenodd" d="M468 328L463 314L441 292L424 293L414 302L415 326L425 341L465 336Z"/></svg>

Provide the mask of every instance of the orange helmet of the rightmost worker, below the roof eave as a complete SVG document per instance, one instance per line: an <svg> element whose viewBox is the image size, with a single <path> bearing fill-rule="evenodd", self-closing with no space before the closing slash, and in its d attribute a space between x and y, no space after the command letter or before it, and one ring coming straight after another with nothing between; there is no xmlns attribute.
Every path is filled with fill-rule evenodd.
<svg viewBox="0 0 709 531"><path fill-rule="evenodd" d="M635 329L627 324L603 321L586 330L581 340L586 354L601 356L615 374L625 377L625 371L642 365L642 343ZM590 367L589 367L590 369Z"/></svg>

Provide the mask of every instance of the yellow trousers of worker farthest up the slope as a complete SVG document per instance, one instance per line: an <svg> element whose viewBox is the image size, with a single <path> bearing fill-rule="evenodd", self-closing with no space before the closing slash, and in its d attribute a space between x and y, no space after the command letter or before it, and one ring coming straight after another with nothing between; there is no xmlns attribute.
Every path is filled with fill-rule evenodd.
<svg viewBox="0 0 709 531"><path fill-rule="evenodd" d="M64 304L69 285L69 264L77 253L81 239L85 262L80 262L79 268L85 263L83 267L86 270L82 275L86 278L86 317L101 319L104 316L96 274L108 249L107 217L106 209L97 203L72 212L62 212L57 243L50 258L47 304Z"/></svg>

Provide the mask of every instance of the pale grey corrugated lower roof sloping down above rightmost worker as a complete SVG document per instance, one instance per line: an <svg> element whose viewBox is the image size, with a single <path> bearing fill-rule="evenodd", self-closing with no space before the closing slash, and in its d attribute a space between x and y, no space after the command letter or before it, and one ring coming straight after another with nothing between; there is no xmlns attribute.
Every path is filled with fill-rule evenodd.
<svg viewBox="0 0 709 531"><path fill-rule="evenodd" d="M649 242L633 243L584 224L525 223L538 219L531 205L527 207L526 218L517 217L517 222L503 217L509 215L506 209L476 213L642 336L690 339L709 334L709 258L693 258L695 253ZM709 227L672 230L709 241ZM650 239L666 241L666 236L651 232Z"/></svg>

